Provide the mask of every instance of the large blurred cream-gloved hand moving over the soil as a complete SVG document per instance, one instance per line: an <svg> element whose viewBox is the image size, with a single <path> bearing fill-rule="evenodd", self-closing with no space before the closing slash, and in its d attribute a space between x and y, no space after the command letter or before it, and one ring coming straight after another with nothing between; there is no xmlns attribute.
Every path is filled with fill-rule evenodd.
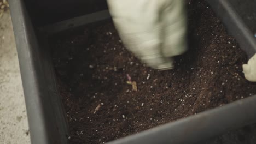
<svg viewBox="0 0 256 144"><path fill-rule="evenodd" d="M107 0L124 45L155 69L172 69L187 50L183 0Z"/></svg>

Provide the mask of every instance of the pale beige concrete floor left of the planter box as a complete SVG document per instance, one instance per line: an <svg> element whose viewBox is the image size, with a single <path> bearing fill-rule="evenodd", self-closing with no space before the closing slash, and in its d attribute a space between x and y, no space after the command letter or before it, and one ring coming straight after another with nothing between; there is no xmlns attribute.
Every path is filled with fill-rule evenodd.
<svg viewBox="0 0 256 144"><path fill-rule="evenodd" d="M30 143L27 113L9 11L0 18L0 143Z"/></svg>

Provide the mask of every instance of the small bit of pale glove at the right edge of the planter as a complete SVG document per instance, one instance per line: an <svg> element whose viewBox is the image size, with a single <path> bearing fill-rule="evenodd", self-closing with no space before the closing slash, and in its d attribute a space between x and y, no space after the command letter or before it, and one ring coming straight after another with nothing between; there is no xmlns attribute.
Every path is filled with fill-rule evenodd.
<svg viewBox="0 0 256 144"><path fill-rule="evenodd" d="M248 81L256 82L256 54L249 59L248 64L243 64L243 73Z"/></svg>

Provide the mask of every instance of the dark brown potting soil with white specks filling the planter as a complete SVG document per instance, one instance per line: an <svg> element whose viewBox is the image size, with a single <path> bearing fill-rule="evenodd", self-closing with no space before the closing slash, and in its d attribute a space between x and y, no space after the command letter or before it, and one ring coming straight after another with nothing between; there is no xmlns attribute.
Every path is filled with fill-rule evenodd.
<svg viewBox="0 0 256 144"><path fill-rule="evenodd" d="M256 94L242 73L245 53L206 2L187 8L189 51L173 70L139 62L111 22L52 40L71 143L108 142Z"/></svg>

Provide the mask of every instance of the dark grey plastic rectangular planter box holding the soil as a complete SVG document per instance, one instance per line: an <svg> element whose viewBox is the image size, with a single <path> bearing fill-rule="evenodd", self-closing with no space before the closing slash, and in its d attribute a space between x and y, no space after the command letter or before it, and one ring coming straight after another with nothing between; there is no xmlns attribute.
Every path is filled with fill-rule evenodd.
<svg viewBox="0 0 256 144"><path fill-rule="evenodd" d="M208 2L223 20L229 32L236 37L241 48L247 52L248 57L254 55L256 52L256 38L254 38L253 32L255 27L247 23L248 21L255 23L255 19L253 21L245 20L238 14L243 9L239 3L245 1L208 0ZM253 9L256 6L255 1L247 0L247 3L254 4L254 7L251 7L252 9L244 5L243 7L252 10L251 13L255 14L255 9ZM9 1L9 5L24 87L31 142L34 144L66 144L69 139L68 123L56 87L47 38L52 33L108 20L109 13L107 10L103 10L80 17L68 17L68 20L54 21L54 23L51 23L52 19L47 21L45 18L47 16L42 13L48 25L38 25L40 17L33 17L32 14L37 5L25 5L22 0ZM242 16L245 17L245 15L247 13L243 13ZM109 143L198 143L226 131L255 123L255 110L256 95Z"/></svg>

